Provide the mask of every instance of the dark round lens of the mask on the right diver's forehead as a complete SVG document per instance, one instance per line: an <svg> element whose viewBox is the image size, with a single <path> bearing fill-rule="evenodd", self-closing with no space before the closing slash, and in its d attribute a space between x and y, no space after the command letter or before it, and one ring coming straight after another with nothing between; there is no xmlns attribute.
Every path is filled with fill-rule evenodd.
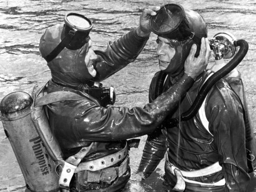
<svg viewBox="0 0 256 192"><path fill-rule="evenodd" d="M166 34L176 30L185 17L184 9L177 4L167 4L152 17L150 25L154 33Z"/></svg>

